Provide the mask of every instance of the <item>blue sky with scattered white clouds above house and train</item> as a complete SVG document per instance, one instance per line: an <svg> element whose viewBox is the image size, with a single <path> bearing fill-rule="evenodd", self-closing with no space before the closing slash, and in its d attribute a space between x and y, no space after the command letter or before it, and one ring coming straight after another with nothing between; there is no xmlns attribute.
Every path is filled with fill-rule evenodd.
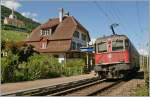
<svg viewBox="0 0 150 97"><path fill-rule="evenodd" d="M14 8L22 15L40 23L58 17L59 8L74 16L90 33L91 39L112 34L127 35L140 53L147 53L148 0L144 1L50 1L50 0L3 0L2 4Z"/></svg>

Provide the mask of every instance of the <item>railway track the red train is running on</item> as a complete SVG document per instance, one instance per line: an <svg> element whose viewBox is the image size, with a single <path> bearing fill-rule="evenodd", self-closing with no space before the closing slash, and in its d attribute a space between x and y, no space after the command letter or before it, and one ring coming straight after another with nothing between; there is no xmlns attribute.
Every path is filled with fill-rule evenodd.
<svg viewBox="0 0 150 97"><path fill-rule="evenodd" d="M101 80L98 83L86 84L70 90L62 91L60 93L58 92L56 94L53 94L52 96L92 96L96 95L99 92L107 91L109 88L117 85L120 82L122 81L119 80L115 82L107 82L106 80Z"/></svg>

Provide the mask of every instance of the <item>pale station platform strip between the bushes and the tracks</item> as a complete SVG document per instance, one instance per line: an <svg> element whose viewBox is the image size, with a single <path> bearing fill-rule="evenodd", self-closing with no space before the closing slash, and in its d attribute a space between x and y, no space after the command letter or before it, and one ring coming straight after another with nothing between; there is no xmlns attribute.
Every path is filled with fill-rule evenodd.
<svg viewBox="0 0 150 97"><path fill-rule="evenodd" d="M51 79L40 79L34 81L24 81L24 82L16 82L16 83L6 83L1 84L1 93L10 93L15 91L46 87L50 85L57 85L68 83L72 81L83 80L87 78L95 77L94 73L78 75L78 76L70 76L70 77L59 77L59 78L51 78Z"/></svg>

